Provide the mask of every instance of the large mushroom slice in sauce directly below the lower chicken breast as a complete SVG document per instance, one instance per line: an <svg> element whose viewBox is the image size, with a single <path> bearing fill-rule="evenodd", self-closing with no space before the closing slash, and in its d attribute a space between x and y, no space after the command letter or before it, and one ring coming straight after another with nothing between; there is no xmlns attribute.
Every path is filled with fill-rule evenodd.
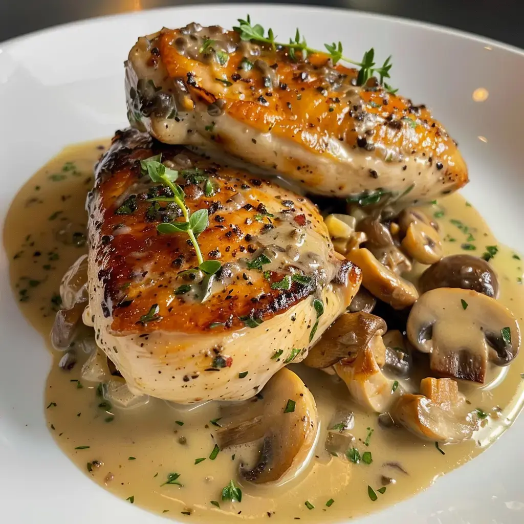
<svg viewBox="0 0 524 524"><path fill-rule="evenodd" d="M262 390L263 399L222 408L223 428L216 432L220 449L262 440L259 461L241 469L246 481L282 484L296 476L313 454L318 414L313 396L287 368Z"/></svg>

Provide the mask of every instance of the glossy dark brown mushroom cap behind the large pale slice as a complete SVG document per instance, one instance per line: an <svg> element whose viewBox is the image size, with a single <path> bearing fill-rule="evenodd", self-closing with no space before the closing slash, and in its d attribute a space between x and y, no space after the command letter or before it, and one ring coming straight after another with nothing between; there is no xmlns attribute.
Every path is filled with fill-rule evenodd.
<svg viewBox="0 0 524 524"><path fill-rule="evenodd" d="M488 297L498 297L498 279L482 258L451 255L426 269L419 280L423 293L436 288L473 289Z"/></svg>

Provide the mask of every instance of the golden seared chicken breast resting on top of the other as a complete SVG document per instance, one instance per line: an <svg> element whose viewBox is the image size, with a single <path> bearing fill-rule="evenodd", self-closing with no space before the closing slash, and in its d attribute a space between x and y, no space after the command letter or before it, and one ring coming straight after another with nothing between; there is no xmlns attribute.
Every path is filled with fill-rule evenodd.
<svg viewBox="0 0 524 524"><path fill-rule="evenodd" d="M215 145L308 192L431 200L459 189L455 141L423 105L324 53L190 24L142 37L126 62L129 121L167 144Z"/></svg>

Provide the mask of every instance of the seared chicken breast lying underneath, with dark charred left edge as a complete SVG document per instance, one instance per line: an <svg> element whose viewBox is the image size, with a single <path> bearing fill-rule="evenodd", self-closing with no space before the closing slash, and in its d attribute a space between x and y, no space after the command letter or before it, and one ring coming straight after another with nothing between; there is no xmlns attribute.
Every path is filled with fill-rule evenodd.
<svg viewBox="0 0 524 524"><path fill-rule="evenodd" d="M220 261L214 275L198 268L187 232L157 231L183 222L173 193L141 162L159 154L188 213L209 213L198 247ZM309 200L133 129L113 139L87 206L84 321L137 394L180 403L253 396L305 358L361 282Z"/></svg>

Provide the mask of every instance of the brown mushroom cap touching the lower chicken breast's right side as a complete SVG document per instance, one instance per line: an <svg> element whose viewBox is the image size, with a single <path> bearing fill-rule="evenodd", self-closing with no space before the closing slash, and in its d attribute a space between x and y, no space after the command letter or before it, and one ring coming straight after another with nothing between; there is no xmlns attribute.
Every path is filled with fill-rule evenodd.
<svg viewBox="0 0 524 524"><path fill-rule="evenodd" d="M344 313L323 333L303 362L309 367L323 369L343 358L355 357L375 336L383 335L386 329L386 322L379 316L363 311ZM380 351L381 346L376 345L376 349L379 354L375 358L384 364L385 355Z"/></svg>

